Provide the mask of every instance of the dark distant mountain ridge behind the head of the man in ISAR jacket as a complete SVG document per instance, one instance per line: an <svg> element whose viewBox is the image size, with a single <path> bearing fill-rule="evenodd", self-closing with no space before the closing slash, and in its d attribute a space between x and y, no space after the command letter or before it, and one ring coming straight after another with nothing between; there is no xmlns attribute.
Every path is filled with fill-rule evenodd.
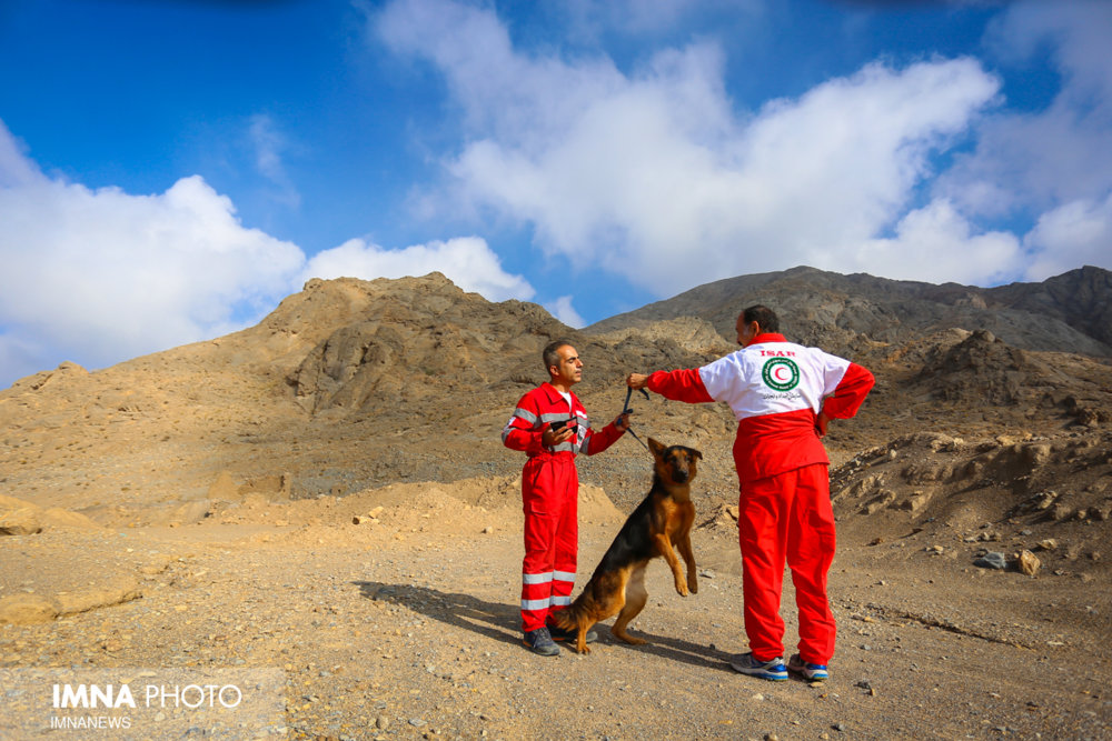
<svg viewBox="0 0 1112 741"><path fill-rule="evenodd" d="M801 267L707 283L585 331L698 317L733 338L738 311L754 303L776 310L790 339L832 352L860 351L864 340L898 344L961 328L990 331L1021 350L1112 357L1112 272L1092 267L989 289Z"/></svg>

